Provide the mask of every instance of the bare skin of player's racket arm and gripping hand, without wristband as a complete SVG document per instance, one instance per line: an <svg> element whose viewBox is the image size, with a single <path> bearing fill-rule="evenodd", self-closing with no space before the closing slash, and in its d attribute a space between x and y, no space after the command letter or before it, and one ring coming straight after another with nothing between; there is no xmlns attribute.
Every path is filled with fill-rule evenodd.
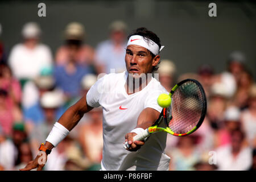
<svg viewBox="0 0 256 182"><path fill-rule="evenodd" d="M142 129L147 129L154 124L156 119L158 119L159 115L159 111L147 107L141 112L141 114L139 114L136 128L141 127ZM135 135L137 134L127 133L125 135L125 142L128 141L128 143L130 144L130 148L127 148L127 150L129 151L137 151L144 144L144 142L142 141L133 141L133 137Z"/></svg>

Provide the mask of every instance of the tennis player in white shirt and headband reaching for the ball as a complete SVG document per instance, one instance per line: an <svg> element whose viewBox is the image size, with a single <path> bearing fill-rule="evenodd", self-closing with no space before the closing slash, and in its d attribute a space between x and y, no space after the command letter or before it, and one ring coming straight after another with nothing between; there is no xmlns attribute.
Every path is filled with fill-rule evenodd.
<svg viewBox="0 0 256 182"><path fill-rule="evenodd" d="M158 69L160 39L146 28L138 28L128 36L125 63L127 71L101 77L77 103L60 117L39 150L48 155L93 107L103 108L103 139L101 170L168 170L170 158L164 154L166 133L159 132L147 141L133 137L150 127L159 117L162 107L159 94L168 92L152 77ZM130 148L125 150L123 143ZM46 155L46 156L47 156ZM20 170L38 168L40 156Z"/></svg>

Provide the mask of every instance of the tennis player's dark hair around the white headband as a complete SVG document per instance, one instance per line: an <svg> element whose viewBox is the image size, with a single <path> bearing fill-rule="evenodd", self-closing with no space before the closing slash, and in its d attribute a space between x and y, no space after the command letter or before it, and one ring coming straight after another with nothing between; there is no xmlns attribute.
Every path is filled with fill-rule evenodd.
<svg viewBox="0 0 256 182"><path fill-rule="evenodd" d="M127 38L127 39L129 40L130 37L133 36L133 35L141 35L141 36L143 36L143 38L144 38L146 41L152 40L152 41L154 41L156 44L158 44L159 49L160 49L160 47L161 47L159 37L158 37L154 32L147 30L147 28L145 28L145 27L137 28L136 30L134 30L133 32L131 32L131 34L128 35L128 38ZM150 54L151 54L152 57L155 57L155 56L156 56L156 55L154 55L154 53L152 53L151 51L150 51ZM160 64L160 61L159 61L158 65L159 65L159 64ZM159 68L158 65L156 65L155 67L153 67L153 71L157 71L157 70L158 70L158 68Z"/></svg>

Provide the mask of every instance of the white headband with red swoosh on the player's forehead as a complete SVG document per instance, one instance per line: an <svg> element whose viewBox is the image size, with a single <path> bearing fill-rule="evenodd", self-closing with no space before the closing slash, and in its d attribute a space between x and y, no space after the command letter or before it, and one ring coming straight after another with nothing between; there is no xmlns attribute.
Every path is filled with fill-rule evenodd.
<svg viewBox="0 0 256 182"><path fill-rule="evenodd" d="M152 41L150 39L148 42L146 42L146 40L144 40L143 36L141 36L141 35L131 36L127 43L127 46L129 46L129 45L142 46L142 47L148 49L154 55L159 55L159 52L164 48L164 46L161 46L161 48L159 49L158 44L156 44L154 41Z"/></svg>

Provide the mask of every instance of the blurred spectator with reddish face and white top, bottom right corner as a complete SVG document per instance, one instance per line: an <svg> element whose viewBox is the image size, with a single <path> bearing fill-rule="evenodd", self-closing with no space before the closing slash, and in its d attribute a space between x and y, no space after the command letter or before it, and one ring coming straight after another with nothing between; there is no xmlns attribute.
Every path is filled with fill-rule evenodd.
<svg viewBox="0 0 256 182"><path fill-rule="evenodd" d="M217 166L220 171L243 171L251 166L249 147L244 146L245 135L240 130L231 133L231 143L217 148Z"/></svg>

